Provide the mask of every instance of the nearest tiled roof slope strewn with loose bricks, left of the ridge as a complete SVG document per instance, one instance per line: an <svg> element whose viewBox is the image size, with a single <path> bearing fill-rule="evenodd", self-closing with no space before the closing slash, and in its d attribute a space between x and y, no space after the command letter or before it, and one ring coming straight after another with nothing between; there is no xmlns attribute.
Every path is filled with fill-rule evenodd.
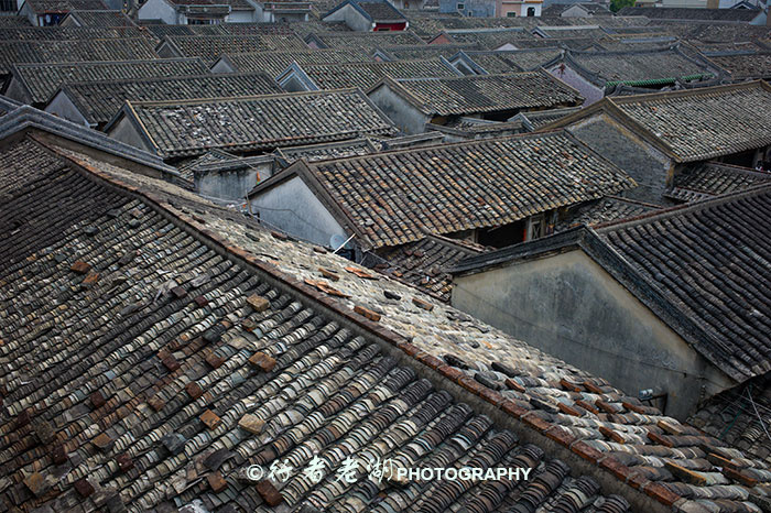
<svg viewBox="0 0 771 513"><path fill-rule="evenodd" d="M34 183L2 183L10 200L0 226L13 244L2 248L0 308L14 326L0 351L4 509L629 510L593 476L555 459L547 438L520 441L507 428L520 425L513 417L493 421L461 403L458 392L419 375L414 369L428 369L416 359L390 356L395 346L336 320L310 293L274 285L267 264L222 253L194 219L200 201L137 198L99 178L130 177L124 170L53 150L63 156L26 139L2 155L14 170L35 170L13 174ZM55 217L52 197L66 199ZM251 237L280 250L267 232ZM34 324L25 321L29 312ZM300 472L314 455L326 463L318 482ZM379 481L363 470L354 483L336 481L347 457L368 456L534 470L521 483L476 487ZM285 483L256 485L238 472L278 461L295 468Z"/></svg>

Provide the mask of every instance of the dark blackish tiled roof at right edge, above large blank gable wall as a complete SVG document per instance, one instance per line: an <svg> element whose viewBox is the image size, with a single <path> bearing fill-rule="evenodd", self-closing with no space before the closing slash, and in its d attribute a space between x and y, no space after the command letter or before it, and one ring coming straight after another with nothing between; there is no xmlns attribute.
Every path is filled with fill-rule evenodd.
<svg viewBox="0 0 771 513"><path fill-rule="evenodd" d="M695 350L740 382L771 370L769 230L767 186L610 226L599 236L704 331Z"/></svg>

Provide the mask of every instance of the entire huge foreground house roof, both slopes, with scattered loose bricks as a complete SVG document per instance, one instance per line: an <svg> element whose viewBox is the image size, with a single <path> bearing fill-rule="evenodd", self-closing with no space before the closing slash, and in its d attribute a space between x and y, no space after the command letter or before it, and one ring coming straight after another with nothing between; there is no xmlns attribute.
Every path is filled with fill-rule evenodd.
<svg viewBox="0 0 771 513"><path fill-rule="evenodd" d="M175 186L152 154L1 106L0 312L14 328L0 352L4 509L767 504L767 462ZM300 472L314 455L326 479ZM532 470L473 487L359 468L336 485L348 457ZM239 472L276 461L296 471L257 482Z"/></svg>

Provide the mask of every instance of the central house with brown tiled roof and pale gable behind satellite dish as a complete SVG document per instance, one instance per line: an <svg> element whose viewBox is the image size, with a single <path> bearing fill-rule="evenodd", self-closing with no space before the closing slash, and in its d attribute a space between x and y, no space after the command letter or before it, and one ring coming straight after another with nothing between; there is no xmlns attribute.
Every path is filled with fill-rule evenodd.
<svg viewBox="0 0 771 513"><path fill-rule="evenodd" d="M550 232L561 209L631 187L623 172L557 131L300 161L259 184L249 201L260 219L300 239L327 244L354 237L360 260L362 251L426 233L491 247L534 239Z"/></svg>

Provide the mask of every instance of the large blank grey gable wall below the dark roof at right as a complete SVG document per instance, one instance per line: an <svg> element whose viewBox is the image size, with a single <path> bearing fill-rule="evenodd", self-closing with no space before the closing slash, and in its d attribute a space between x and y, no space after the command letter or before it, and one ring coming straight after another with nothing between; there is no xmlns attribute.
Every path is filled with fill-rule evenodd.
<svg viewBox="0 0 771 513"><path fill-rule="evenodd" d="M630 395L666 392L681 421L731 385L580 250L458 276L452 304Z"/></svg>

